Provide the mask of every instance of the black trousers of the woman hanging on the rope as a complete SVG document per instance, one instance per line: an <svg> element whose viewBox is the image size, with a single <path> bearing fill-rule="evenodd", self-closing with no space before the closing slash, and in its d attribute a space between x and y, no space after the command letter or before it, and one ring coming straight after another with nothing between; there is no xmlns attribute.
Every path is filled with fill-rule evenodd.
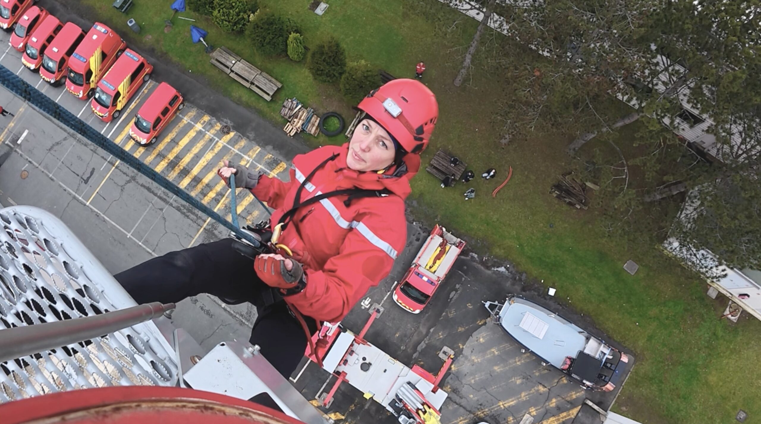
<svg viewBox="0 0 761 424"><path fill-rule="evenodd" d="M244 299L258 312L250 343L286 378L298 367L307 348L307 335L282 299L272 303L272 291L253 269L253 260L233 249L227 238L154 257L116 274L116 280L138 304L178 302L208 293L219 298ZM317 322L304 317L311 333Z"/></svg>

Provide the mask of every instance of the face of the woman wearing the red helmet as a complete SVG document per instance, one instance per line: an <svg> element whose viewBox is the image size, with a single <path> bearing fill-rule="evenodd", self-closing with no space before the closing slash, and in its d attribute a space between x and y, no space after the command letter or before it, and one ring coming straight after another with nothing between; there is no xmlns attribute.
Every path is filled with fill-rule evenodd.
<svg viewBox="0 0 761 424"><path fill-rule="evenodd" d="M380 171L393 163L396 152L390 135L371 120L361 120L349 141L346 165L354 171Z"/></svg>

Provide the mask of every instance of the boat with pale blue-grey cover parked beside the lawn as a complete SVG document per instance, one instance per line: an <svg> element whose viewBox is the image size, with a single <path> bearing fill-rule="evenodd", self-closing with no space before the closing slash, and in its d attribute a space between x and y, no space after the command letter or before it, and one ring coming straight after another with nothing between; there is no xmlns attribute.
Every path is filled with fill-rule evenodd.
<svg viewBox="0 0 761 424"><path fill-rule="evenodd" d="M613 391L629 357L576 324L521 296L484 302L495 323L543 362L594 391Z"/></svg>

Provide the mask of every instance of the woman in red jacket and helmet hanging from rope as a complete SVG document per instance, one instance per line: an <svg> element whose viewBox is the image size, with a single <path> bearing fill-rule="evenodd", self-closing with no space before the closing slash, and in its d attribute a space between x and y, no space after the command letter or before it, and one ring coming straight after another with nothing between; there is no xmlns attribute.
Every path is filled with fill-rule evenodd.
<svg viewBox="0 0 761 424"><path fill-rule="evenodd" d="M311 332L320 321L342 320L390 273L406 243L409 180L438 117L434 94L412 79L389 81L358 108L366 114L349 143L296 156L288 182L226 161L219 169L275 209L272 229L287 250L251 260L225 239L156 257L116 279L138 303L199 293L250 301L258 311L250 342L291 375L307 346L295 316Z"/></svg>

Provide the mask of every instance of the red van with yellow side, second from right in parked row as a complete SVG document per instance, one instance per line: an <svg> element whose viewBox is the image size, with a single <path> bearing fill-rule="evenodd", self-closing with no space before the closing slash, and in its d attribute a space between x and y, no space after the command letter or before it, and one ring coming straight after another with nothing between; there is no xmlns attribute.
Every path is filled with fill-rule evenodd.
<svg viewBox="0 0 761 424"><path fill-rule="evenodd" d="M118 118L135 91L151 79L152 71L153 65L132 49L126 49L97 84L91 102L93 112L104 122Z"/></svg>

